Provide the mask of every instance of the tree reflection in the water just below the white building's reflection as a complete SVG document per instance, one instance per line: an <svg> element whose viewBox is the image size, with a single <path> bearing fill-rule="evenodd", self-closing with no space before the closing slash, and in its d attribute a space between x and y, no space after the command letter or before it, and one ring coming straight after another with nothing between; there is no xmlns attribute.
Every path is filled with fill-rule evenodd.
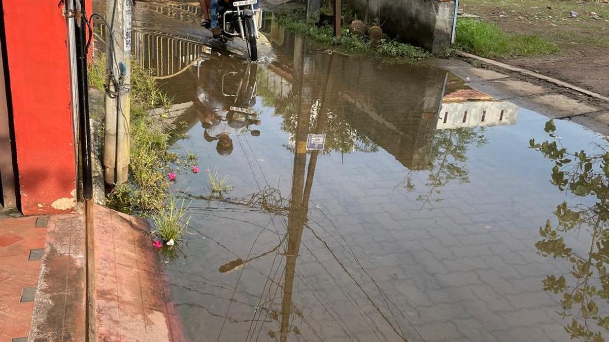
<svg viewBox="0 0 609 342"><path fill-rule="evenodd" d="M435 132L431 147L431 163L425 186L428 191L420 194L417 200L430 203L432 197L440 195L442 187L452 180L469 183L470 176L466 169L467 150L471 145L481 147L488 142L484 136L484 127L465 127ZM415 190L412 181L413 172L410 170L401 184L408 191ZM442 201L435 198L434 201Z"/></svg>

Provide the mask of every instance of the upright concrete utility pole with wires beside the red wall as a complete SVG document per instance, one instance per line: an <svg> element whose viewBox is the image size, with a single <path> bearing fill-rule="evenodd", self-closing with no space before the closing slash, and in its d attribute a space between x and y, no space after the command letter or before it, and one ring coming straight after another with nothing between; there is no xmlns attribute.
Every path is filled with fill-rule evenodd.
<svg viewBox="0 0 609 342"><path fill-rule="evenodd" d="M104 169L106 184L127 181L131 83L131 18L133 0L108 1L106 69L111 77L106 91Z"/></svg>

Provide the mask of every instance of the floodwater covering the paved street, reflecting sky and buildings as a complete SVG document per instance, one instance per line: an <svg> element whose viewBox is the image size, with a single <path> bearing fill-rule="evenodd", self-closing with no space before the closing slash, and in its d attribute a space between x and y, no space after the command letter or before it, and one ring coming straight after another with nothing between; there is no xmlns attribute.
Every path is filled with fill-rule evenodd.
<svg viewBox="0 0 609 342"><path fill-rule="evenodd" d="M175 182L192 218L166 265L192 341L568 341L573 318L606 335L602 296L595 311L583 295L588 316L560 315L574 286L602 287L571 273L575 259L607 262L609 243L583 223L544 249L558 205L596 203L552 184L554 162L529 148L551 139L546 117L442 69L326 51L270 18L266 58L248 63L242 44L205 38L194 7L138 6L135 55L175 96L188 134L175 151L202 170ZM555 124L569 150L604 143ZM213 194L205 169L233 189ZM572 250L544 256L560 243ZM547 280L560 276L570 287Z"/></svg>

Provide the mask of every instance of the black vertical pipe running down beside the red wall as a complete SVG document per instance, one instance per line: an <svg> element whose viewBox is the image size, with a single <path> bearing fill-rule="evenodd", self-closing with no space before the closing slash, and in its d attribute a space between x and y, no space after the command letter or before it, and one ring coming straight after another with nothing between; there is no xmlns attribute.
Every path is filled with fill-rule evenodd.
<svg viewBox="0 0 609 342"><path fill-rule="evenodd" d="M93 198L93 171L91 168L91 127L89 124L89 81L86 71L86 23L85 1L80 1L80 23L76 23L76 69L78 75L78 101L79 101L79 139L80 158L82 161L83 197L85 200Z"/></svg>

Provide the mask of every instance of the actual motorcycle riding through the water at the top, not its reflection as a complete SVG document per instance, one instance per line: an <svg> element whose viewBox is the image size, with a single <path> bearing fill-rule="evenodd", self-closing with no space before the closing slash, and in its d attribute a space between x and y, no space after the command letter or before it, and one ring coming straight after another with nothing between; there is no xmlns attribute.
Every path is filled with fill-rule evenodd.
<svg viewBox="0 0 609 342"><path fill-rule="evenodd" d="M258 60L258 38L259 19L261 12L255 8L258 6L258 0L219 0L219 23L222 28L222 33L228 37L241 37L245 40L247 53L250 59Z"/></svg>

